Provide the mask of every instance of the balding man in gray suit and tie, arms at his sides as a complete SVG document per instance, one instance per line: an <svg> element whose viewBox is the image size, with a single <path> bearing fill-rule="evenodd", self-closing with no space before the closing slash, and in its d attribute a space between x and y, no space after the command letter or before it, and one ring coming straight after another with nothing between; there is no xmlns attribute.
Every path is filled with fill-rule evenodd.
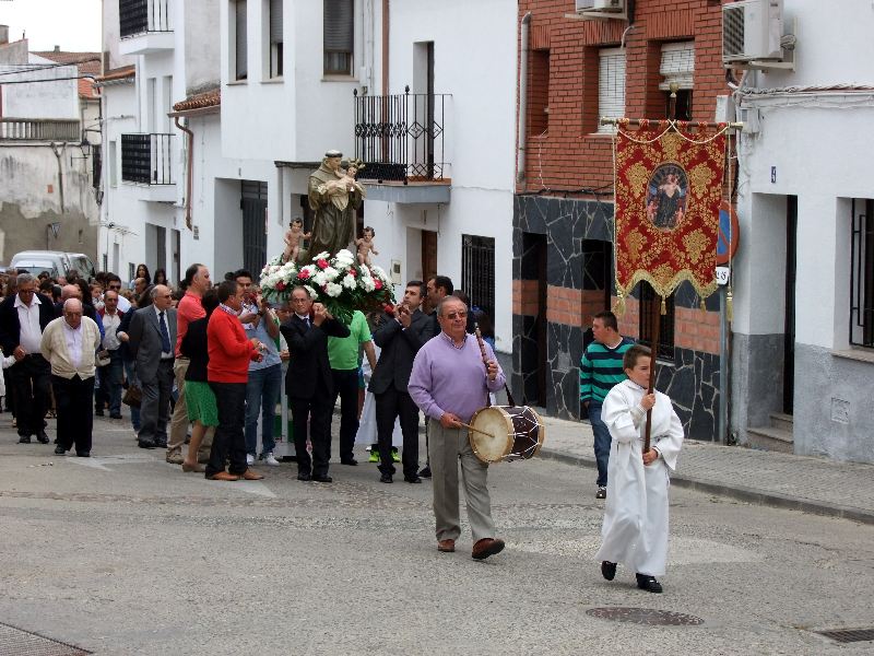
<svg viewBox="0 0 874 656"><path fill-rule="evenodd" d="M142 382L139 441L141 448L167 448L167 422L173 394L173 361L176 358L176 308L169 288L152 288L152 307L133 315L128 347Z"/></svg>

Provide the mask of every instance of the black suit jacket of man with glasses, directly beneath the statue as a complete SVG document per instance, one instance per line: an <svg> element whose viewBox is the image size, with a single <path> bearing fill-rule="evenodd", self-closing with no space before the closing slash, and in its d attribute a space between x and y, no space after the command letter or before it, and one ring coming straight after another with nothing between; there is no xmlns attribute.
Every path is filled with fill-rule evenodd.
<svg viewBox="0 0 874 656"><path fill-rule="evenodd" d="M280 331L288 343L288 372L285 374L285 394L291 398L311 399L321 376L333 394L331 363L328 360L328 338L349 337L349 328L339 319L326 319L321 327L307 323L293 314Z"/></svg>

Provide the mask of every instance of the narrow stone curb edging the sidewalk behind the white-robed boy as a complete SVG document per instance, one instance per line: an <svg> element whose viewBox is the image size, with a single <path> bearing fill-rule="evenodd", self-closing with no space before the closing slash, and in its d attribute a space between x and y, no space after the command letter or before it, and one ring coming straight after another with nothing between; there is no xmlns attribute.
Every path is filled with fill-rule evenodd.
<svg viewBox="0 0 874 656"><path fill-rule="evenodd" d="M598 469L598 464L595 462L594 458L586 458L583 456L575 456L571 454L550 449L541 449L538 454L538 457L545 460L563 462L564 465ZM697 492L706 492L708 494L735 499L751 505L763 505L788 511L800 511L802 513L810 513L811 515L839 517L841 519L851 519L852 522L859 522L861 524L874 525L874 512L863 508L852 508L849 506L829 504L822 501L804 501L786 496L784 494L766 492L764 490L756 490L755 488L746 488L743 485L724 485L722 483L704 481L682 473L672 473L671 484L695 490Z"/></svg>

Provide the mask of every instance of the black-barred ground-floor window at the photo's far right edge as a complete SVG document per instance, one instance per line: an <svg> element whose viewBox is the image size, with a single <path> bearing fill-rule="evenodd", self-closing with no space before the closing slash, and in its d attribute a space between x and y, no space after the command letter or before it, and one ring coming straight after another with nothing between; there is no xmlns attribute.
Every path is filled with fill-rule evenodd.
<svg viewBox="0 0 874 656"><path fill-rule="evenodd" d="M874 200L853 201L850 343L874 348Z"/></svg>

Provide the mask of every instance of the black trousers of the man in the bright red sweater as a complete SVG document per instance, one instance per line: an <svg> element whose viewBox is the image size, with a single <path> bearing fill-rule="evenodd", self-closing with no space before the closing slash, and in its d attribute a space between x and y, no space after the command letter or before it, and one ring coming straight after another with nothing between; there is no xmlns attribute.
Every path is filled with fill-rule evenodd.
<svg viewBox="0 0 874 656"><path fill-rule="evenodd" d="M210 380L210 388L218 407L218 426L212 438L206 476L224 471L227 459L231 460L231 473L244 473L249 468L246 464L246 436L243 432L246 425L246 383Z"/></svg>

